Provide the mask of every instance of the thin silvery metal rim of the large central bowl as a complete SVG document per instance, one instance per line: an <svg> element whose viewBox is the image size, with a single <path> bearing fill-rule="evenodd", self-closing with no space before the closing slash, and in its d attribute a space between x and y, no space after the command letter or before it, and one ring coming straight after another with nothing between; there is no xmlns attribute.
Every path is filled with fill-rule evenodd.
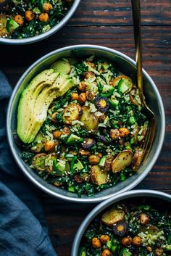
<svg viewBox="0 0 171 256"><path fill-rule="evenodd" d="M63 194L59 194L57 192L51 191L51 189L46 188L41 183L36 181L30 175L28 170L26 170L24 168L24 166L22 165L22 162L20 160L20 157L17 156L17 152L15 152L14 148L12 147L12 133L10 131L10 120L11 120L11 116L12 116L12 112L11 112L11 110L12 110L12 102L14 100L14 97L15 97L15 94L16 94L18 88L20 87L20 83L22 83L22 80L24 80L25 76L27 76L28 73L30 73L30 70L32 70L33 67L36 67L36 65L38 65L40 62L42 62L44 59L46 59L48 57L51 57L54 54L60 53L62 51L68 51L68 50L73 50L73 49L85 49L85 48L86 49L87 48L99 49L101 51L107 51L107 52L110 52L112 54L119 55L123 59L128 60L130 62L130 64L133 64L135 66L135 61L133 59L131 59L130 57L128 57L127 55L122 54L120 51L116 51L116 50L113 50L113 49L110 49L110 48L107 48L107 47L104 47L104 46L82 44L82 45L67 46L67 47L64 47L64 48L61 48L61 49L57 49L55 51L51 51L49 54L46 54L45 56L41 57L36 62L34 62L33 65L28 67L28 69L25 71L25 73L23 73L23 75L21 76L20 80L18 80L17 85L15 86L15 88L14 88L14 90L12 92L12 96L11 96L11 98L9 100L9 106L8 106L8 110L7 110L7 138L8 138L9 146L10 146L10 149L11 149L12 154L14 156L14 159L17 162L17 165L20 167L22 172L25 173L25 176L27 176L30 181L32 181L36 186L38 186L39 189L45 191L47 194L50 194L51 196L54 196L54 197L57 197L59 199L63 199L63 200L69 201L69 202L95 203L95 202L101 202L104 199L108 199L109 197L112 197L113 194L110 194L110 195L107 195L107 196L103 196L103 197L96 197L96 198L93 198L93 197L92 198L91 197L90 198L67 197L67 196L65 196ZM151 160L148 168L146 168L146 170L144 170L143 173L141 173L141 175L135 181L133 181L133 183L130 183L130 185L126 186L125 189L121 189L120 191L118 191L117 194L120 194L120 193L125 192L125 191L129 191L130 189L133 189L135 186L138 185L138 183L140 183L143 180L143 178L146 177L146 175L149 173L149 171L153 167L154 163L157 161L157 158L159 157L159 153L160 153L160 151L162 149L162 144L163 144L163 141L164 141L165 115L164 115L164 107L163 107L163 103L162 103L162 98L161 98L161 96L159 94L159 91L158 91L157 86L155 85L154 81L151 79L149 74L146 73L145 70L143 70L143 75L146 76L146 78L149 80L149 83L151 83L151 85L153 86L153 89L154 89L155 93L157 94L158 100L159 100L159 106L160 106L160 109L161 109L161 119L162 119L159 143L158 143L158 146L157 146L157 150L156 150L156 152L154 154L154 157Z"/></svg>

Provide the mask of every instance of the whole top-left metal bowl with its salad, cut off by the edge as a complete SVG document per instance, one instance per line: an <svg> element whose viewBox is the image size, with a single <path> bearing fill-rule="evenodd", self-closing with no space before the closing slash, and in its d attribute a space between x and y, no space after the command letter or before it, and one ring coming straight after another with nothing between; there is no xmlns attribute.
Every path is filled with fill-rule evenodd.
<svg viewBox="0 0 171 256"><path fill-rule="evenodd" d="M61 29L80 0L13 1L0 3L0 44L31 44Z"/></svg>

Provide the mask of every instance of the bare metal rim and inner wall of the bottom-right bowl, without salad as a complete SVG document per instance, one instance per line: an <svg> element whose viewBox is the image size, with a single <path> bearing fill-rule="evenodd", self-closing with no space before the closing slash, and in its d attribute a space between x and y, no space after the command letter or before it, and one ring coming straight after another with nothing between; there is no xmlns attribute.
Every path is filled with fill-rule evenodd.
<svg viewBox="0 0 171 256"><path fill-rule="evenodd" d="M127 191L125 193L111 197L108 200L101 202L100 205L96 206L93 210L91 210L91 212L83 220L80 227L78 228L78 231L75 235L75 239L72 243L71 256L78 256L78 249L80 247L80 241L83 237L83 234L85 233L85 231L88 228L91 221L94 218L96 218L96 216L99 215L100 212L104 211L105 209L107 209L107 207L113 205L114 203L120 202L122 200L130 199L131 202L133 203L136 197L138 197L138 199L140 199L140 197L143 199L145 198L147 200L147 202L150 202L151 199L156 200L157 204L160 204L161 207L162 207L163 203L168 204L168 202L169 202L167 207L168 207L168 210L170 210L171 195L160 192L160 191L133 190L133 191Z"/></svg>

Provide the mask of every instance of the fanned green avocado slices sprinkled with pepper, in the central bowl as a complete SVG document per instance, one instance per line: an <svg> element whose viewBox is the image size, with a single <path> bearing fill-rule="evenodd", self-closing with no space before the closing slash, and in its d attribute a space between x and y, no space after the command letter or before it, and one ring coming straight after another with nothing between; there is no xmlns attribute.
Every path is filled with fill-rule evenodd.
<svg viewBox="0 0 171 256"><path fill-rule="evenodd" d="M22 91L17 112L17 134L24 143L35 139L46 120L51 102L71 87L72 80L67 75L59 75L50 69L36 75Z"/></svg>

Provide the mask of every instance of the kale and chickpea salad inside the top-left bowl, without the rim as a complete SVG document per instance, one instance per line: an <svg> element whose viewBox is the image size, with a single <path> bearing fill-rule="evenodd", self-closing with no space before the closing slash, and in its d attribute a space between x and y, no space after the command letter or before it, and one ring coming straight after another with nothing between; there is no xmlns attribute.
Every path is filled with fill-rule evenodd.
<svg viewBox="0 0 171 256"><path fill-rule="evenodd" d="M22 39L49 31L67 14L72 0L0 0L0 37Z"/></svg>

